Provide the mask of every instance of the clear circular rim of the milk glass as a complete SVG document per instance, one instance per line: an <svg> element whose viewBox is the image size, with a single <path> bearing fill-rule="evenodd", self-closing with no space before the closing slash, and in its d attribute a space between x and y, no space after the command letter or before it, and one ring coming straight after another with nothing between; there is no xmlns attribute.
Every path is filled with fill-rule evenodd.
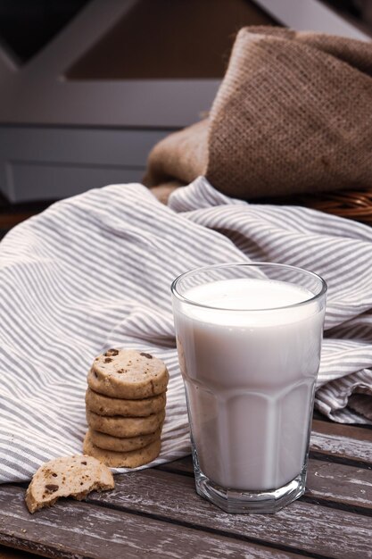
<svg viewBox="0 0 372 559"><path fill-rule="evenodd" d="M304 299L298 303L293 303L292 305L283 305L283 306L274 306L274 307L265 307L260 309L252 309L252 308L242 308L242 309L232 309L228 307L219 307L215 305L205 305L203 303L198 303L197 301L193 301L192 299L187 299L186 296L183 296L181 293L178 292L177 287L179 281L183 280L187 276L191 276L194 273L208 271L208 270L216 270L218 268L269 268L269 267L276 267L276 268L286 268L288 270L298 271L304 275L310 276L311 278L318 280L320 282L320 290L316 295L311 296L309 299ZM280 280L279 280L280 281ZM327 282L323 280L321 276L319 276L314 271L304 270L298 266L292 266L291 264L282 264L282 263L269 263L269 262L257 262L257 263L220 263L220 264L210 264L208 266L200 266L199 268L194 268L193 270L184 271L183 273L179 274L179 276L172 281L170 285L170 291L173 296L175 296L178 301L182 303L186 303L187 305L193 305L195 307L203 308L203 309L211 309L216 311L227 311L228 313L236 312L236 313L263 313L266 311L282 311L283 309L292 309L302 305L310 305L315 301L318 301L322 296L325 296L327 293Z"/></svg>

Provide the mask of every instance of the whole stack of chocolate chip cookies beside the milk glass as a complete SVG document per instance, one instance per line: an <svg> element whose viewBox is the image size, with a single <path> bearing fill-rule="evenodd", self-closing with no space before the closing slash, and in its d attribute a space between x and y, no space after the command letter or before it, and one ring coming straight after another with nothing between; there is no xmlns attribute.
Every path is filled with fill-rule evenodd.
<svg viewBox="0 0 372 559"><path fill-rule="evenodd" d="M136 468L160 453L169 374L153 355L109 349L87 375L84 453L112 468Z"/></svg>

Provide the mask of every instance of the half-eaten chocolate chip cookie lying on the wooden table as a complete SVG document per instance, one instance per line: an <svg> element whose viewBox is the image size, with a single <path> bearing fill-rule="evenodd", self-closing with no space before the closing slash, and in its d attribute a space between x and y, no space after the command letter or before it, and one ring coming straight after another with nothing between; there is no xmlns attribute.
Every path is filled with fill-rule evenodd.
<svg viewBox="0 0 372 559"><path fill-rule="evenodd" d="M92 456L74 455L55 458L40 466L26 492L30 513L52 506L61 496L81 500L90 491L113 489L112 472Z"/></svg>

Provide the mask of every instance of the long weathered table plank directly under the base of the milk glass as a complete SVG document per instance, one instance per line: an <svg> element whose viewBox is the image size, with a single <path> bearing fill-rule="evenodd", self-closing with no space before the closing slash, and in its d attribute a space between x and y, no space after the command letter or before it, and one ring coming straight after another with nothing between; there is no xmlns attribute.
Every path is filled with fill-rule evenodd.
<svg viewBox="0 0 372 559"><path fill-rule="evenodd" d="M372 557L370 517L297 501L275 515L227 514L196 495L189 476L144 470L116 478L116 488L89 502L149 513L224 535L332 557Z"/></svg>

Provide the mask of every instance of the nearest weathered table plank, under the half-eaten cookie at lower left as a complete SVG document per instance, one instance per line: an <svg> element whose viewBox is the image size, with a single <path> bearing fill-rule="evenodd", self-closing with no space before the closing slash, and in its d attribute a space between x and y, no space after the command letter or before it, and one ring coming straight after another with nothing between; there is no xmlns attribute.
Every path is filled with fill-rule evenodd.
<svg viewBox="0 0 372 559"><path fill-rule="evenodd" d="M136 495L131 498L136 499ZM23 499L23 488L11 485L0 488L0 543L46 557L293 559L295 556L252 542L70 499L31 515ZM151 509L144 512L153 513Z"/></svg>

